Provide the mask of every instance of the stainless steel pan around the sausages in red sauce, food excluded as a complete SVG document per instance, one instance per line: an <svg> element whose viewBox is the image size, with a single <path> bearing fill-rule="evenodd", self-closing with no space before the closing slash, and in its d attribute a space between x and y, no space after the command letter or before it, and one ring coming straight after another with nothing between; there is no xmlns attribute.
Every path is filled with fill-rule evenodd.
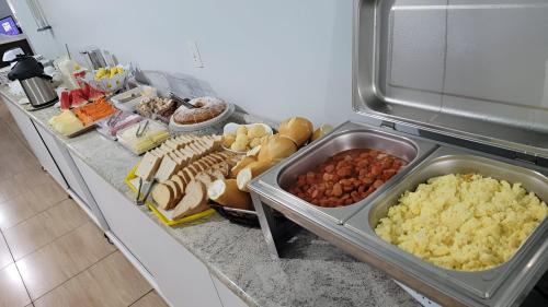
<svg viewBox="0 0 548 307"><path fill-rule="evenodd" d="M369 199L383 192L387 187L392 185L398 178L401 178L408 169L412 168L420 162L424 154L434 149L433 143L427 143L421 140L411 140L400 134L383 131L381 129L368 128L354 125L351 122L339 127L329 137L323 138L320 142L307 146L306 150L299 153L298 156L292 158L288 163L279 166L278 172L270 173L270 177L277 176L277 184L284 190L288 191L289 187L297 180L299 175L316 168L329 157L336 153L354 149L375 149L393 156L400 157L408 162L408 165L390 178L385 185L378 188L367 198L359 202L341 206L341 208L322 208L311 204L300 198L289 193L292 205L306 208L313 214L323 214L332 219L335 223L342 224L355 212L361 210ZM265 178L267 180L267 178ZM276 180L274 180L276 181ZM288 193L288 192L287 192Z"/></svg>

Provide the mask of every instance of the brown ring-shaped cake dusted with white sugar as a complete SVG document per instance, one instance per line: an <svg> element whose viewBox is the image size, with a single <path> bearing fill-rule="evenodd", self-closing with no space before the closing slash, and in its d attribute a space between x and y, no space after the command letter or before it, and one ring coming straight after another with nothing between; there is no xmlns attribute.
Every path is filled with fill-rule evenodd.
<svg viewBox="0 0 548 307"><path fill-rule="evenodd" d="M173 120L179 125L193 125L203 122L219 116L227 108L227 104L218 98L202 97L190 102L196 108L190 109L181 106L175 114Z"/></svg>

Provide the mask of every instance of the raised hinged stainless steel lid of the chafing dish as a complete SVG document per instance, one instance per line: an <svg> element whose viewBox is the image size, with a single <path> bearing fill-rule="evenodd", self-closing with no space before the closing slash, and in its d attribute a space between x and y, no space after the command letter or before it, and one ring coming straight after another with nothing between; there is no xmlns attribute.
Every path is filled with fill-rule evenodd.
<svg viewBox="0 0 548 307"><path fill-rule="evenodd" d="M353 108L546 160L548 3L479 3L355 0Z"/></svg>

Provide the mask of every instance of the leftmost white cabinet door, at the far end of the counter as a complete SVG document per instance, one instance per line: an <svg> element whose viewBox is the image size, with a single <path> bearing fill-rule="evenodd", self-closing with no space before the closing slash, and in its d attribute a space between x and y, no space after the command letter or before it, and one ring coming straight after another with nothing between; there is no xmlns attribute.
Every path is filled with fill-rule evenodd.
<svg viewBox="0 0 548 307"><path fill-rule="evenodd" d="M42 164L42 166L47 170L47 173L49 173L49 175L52 175L52 177L64 189L67 189L68 188L67 182L65 181L65 178L59 172L59 168L55 164L55 161L53 160L52 155L49 154L49 151L44 144L44 141L38 134L38 131L36 131L33 121L26 116L26 114L24 114L19 107L14 106L10 102L7 102L4 99L4 104L10 110L11 115L13 116L13 119L18 123L19 129L21 129L21 132L23 132L23 135L25 135L26 142L28 142L28 145L34 152L34 155L38 160L39 164Z"/></svg>

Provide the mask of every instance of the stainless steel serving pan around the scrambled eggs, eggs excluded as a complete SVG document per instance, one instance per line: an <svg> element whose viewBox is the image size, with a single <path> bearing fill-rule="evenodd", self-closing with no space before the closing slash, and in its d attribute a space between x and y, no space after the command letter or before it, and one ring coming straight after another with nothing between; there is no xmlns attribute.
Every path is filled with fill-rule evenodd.
<svg viewBox="0 0 548 307"><path fill-rule="evenodd" d="M452 296L461 295L464 302L466 297L466 299L475 299L476 303L484 304L496 300L501 296L516 296L520 287L506 286L506 290L501 290L501 287L504 284L526 285L527 275L544 272L537 271L537 268L546 267L548 259L543 257L544 251L538 247L548 237L548 219L533 232L509 261L493 269L477 272L436 267L383 240L374 231L378 221L387 215L388 209L398 203L399 197L406 191L414 191L420 184L436 176L468 173L507 180L511 184L522 182L527 191L535 192L541 200L548 200L546 188L548 178L539 172L457 149L441 147L413 169L404 180L392 186L375 203L365 206L344 225L368 240L377 252L383 253L387 262L419 274L422 280Z"/></svg>

